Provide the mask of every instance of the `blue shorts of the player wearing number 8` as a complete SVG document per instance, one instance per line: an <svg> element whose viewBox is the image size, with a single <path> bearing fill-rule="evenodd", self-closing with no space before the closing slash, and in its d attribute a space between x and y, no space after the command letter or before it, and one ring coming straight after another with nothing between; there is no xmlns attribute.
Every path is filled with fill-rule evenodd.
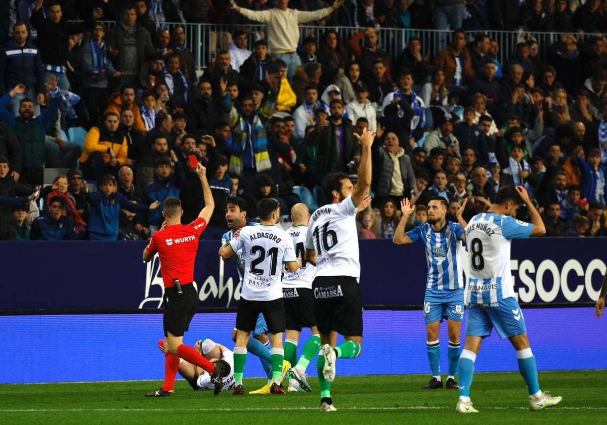
<svg viewBox="0 0 607 425"><path fill-rule="evenodd" d="M494 307L468 305L466 336L489 336L492 328L501 339L527 333L523 310L514 297L502 299Z"/></svg>

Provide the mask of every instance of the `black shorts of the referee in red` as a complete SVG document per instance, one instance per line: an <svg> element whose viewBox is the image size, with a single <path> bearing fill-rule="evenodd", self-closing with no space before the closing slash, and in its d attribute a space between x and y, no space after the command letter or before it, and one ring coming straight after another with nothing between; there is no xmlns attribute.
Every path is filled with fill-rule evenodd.
<svg viewBox="0 0 607 425"><path fill-rule="evenodd" d="M183 336L198 308L198 293L192 284L181 285L182 295L177 288L164 288L164 336L171 332Z"/></svg>

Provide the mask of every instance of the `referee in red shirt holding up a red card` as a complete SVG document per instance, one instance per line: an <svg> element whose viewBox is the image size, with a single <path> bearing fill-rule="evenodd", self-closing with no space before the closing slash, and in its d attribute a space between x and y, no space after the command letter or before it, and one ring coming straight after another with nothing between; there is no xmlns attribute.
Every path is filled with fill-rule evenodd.
<svg viewBox="0 0 607 425"><path fill-rule="evenodd" d="M215 208L205 172L206 168L199 163L196 173L202 184L205 208L200 211L197 219L188 225L182 225L181 201L175 197L167 198L162 212L164 223L143 250L144 262L149 262L156 253L160 256L160 271L164 282L164 384L160 389L146 393L146 397L173 395L180 358L209 372L215 386L215 395L222 390L222 379L231 370L227 362L219 360L212 363L197 350L183 344L183 334L188 330L198 307L198 294L192 285L198 239Z"/></svg>

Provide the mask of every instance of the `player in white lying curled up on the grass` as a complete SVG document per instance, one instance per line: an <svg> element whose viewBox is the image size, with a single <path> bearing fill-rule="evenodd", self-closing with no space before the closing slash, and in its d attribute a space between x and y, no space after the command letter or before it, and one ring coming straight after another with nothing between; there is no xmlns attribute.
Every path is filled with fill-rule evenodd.
<svg viewBox="0 0 607 425"><path fill-rule="evenodd" d="M158 341L158 348L164 353L164 340ZM226 361L230 366L230 372L223 377L222 391L234 386L234 353L226 349L225 345L217 344L212 339L201 339L194 344L194 350L198 350L202 356L215 363L219 360ZM188 361L180 359L179 375L195 390L215 390L215 384L211 381L211 375L202 367L196 366Z"/></svg>

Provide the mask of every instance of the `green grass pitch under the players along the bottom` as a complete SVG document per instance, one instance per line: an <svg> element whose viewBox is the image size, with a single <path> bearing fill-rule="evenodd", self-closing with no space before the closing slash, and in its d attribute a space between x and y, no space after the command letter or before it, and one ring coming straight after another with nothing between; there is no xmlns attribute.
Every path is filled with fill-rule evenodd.
<svg viewBox="0 0 607 425"><path fill-rule="evenodd" d="M310 371L313 372L311 365ZM338 365L339 367L339 365ZM338 369L339 373L339 369ZM183 381L171 398L144 398L160 381L0 386L0 423L8 424L605 424L607 370L540 372L540 385L563 402L531 412L518 373L477 373L472 401L480 413L454 412L457 390L421 390L427 375L339 376L333 383L337 412L319 411L312 393L232 396L194 392ZM245 391L263 379L246 379ZM286 386L285 386L286 387ZM327 415L329 418L327 418Z"/></svg>

